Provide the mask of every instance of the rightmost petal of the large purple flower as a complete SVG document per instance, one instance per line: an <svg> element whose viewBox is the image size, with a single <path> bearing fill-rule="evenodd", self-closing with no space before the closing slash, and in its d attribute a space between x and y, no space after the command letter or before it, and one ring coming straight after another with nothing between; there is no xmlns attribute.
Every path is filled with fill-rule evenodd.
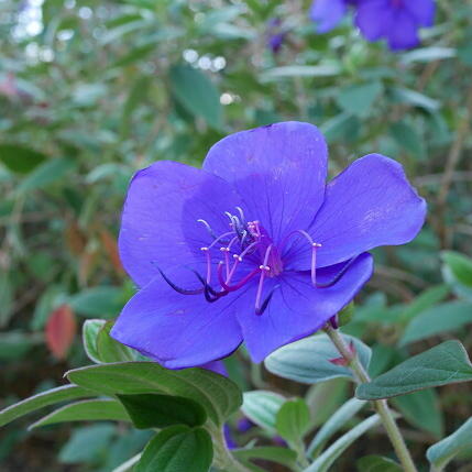
<svg viewBox="0 0 472 472"><path fill-rule="evenodd" d="M327 186L325 204L309 230L317 266L347 261L380 245L411 241L425 222L426 202L397 162L380 154L354 161ZM299 246L301 248L301 245ZM309 268L310 248L299 249L290 264Z"/></svg>

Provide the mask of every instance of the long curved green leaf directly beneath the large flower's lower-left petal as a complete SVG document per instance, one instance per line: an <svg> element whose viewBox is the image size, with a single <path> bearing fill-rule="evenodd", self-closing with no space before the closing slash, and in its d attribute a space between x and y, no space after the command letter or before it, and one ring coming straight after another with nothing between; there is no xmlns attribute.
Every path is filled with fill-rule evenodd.
<svg viewBox="0 0 472 472"><path fill-rule="evenodd" d="M217 426L242 403L241 392L233 382L204 369L171 371L155 362L124 362L91 365L66 375L72 382L103 395L160 393L194 399Z"/></svg>

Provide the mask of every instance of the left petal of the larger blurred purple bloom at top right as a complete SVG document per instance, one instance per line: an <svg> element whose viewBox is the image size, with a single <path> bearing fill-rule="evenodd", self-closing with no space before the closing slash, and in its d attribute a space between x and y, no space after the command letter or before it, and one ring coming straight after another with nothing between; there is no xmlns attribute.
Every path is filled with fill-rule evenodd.
<svg viewBox="0 0 472 472"><path fill-rule="evenodd" d="M384 37L394 24L394 10L388 0L364 0L359 2L355 24L367 41Z"/></svg>

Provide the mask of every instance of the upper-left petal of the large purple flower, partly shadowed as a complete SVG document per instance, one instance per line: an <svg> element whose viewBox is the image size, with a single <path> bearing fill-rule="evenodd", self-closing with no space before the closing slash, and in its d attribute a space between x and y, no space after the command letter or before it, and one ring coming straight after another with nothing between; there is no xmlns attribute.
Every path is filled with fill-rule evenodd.
<svg viewBox="0 0 472 472"><path fill-rule="evenodd" d="M202 263L199 248L211 238L199 218L219 234L228 231L224 211L241 205L222 179L184 164L162 161L133 177L124 204L119 249L124 268L139 286L164 271Z"/></svg>

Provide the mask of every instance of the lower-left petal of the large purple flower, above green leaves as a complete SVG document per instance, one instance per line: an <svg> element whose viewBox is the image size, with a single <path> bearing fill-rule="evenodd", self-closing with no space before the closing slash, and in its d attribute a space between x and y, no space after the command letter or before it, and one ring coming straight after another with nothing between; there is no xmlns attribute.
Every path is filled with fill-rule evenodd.
<svg viewBox="0 0 472 472"><path fill-rule="evenodd" d="M182 284L190 286L191 275ZM127 304L111 336L167 369L199 366L238 348L242 336L235 314L252 303L239 290L209 304L202 295L174 292L158 276Z"/></svg>

